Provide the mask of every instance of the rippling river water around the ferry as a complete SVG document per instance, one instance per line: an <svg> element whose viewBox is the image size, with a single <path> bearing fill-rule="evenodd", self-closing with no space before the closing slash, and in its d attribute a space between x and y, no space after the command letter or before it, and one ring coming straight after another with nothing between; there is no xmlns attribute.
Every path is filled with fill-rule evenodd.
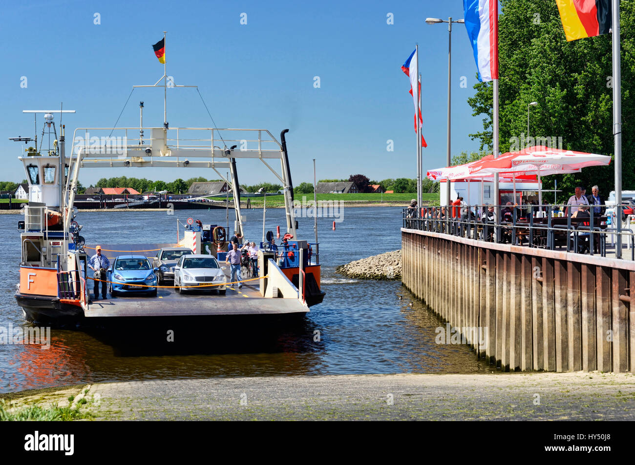
<svg viewBox="0 0 635 465"><path fill-rule="evenodd" d="M318 218L322 288L326 298L313 306L300 327L283 331L274 341L225 344L210 341L206 327L189 329L189 341L166 353L145 343L144 329L132 335L144 350L129 350L130 341L82 328L51 329L50 348L37 344L0 344L0 392L100 381L135 381L297 374L392 374L489 372L464 345L436 344L438 318L399 281L353 280L335 273L349 261L401 248L401 209L350 207L332 230L333 218ZM232 215L230 211L230 215ZM262 239L262 209L244 210L245 237ZM225 225L224 210L166 212L80 212L86 244L168 243L176 240L176 219L191 216L204 224ZM0 327L24 324L13 294L18 282L20 234L18 214L0 215L3 249L0 266ZM231 216L230 216L231 219ZM299 239L313 242L313 219L298 218ZM267 230L284 225L284 209L267 210ZM401 299L400 299L401 298ZM412 302L413 305L409 305ZM125 320L121 320L125 324ZM210 323L210 324L213 324ZM267 330L269 331L269 330ZM316 341L319 331L319 341ZM130 334L128 334L130 337ZM123 348L122 348L123 346Z"/></svg>

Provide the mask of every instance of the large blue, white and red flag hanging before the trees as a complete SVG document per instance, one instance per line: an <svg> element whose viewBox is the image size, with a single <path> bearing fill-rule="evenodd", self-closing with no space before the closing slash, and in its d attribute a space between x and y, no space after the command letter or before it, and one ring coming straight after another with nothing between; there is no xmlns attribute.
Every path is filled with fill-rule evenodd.
<svg viewBox="0 0 635 465"><path fill-rule="evenodd" d="M463 0L463 8L478 80L498 79L498 0Z"/></svg>

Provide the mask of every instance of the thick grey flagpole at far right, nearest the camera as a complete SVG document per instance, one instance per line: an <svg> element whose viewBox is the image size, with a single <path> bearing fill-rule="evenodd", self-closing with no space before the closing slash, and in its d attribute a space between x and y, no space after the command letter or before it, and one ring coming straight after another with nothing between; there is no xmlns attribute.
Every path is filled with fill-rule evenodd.
<svg viewBox="0 0 635 465"><path fill-rule="evenodd" d="M613 28L613 138L615 138L615 258L622 258L622 69L620 67L620 1L612 1Z"/></svg>

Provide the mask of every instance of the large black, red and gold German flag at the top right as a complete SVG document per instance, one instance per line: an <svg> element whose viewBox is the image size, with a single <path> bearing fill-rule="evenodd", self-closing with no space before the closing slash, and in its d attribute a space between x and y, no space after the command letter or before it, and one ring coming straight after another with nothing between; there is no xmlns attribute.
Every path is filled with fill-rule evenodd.
<svg viewBox="0 0 635 465"><path fill-rule="evenodd" d="M566 41L608 34L611 0L556 0Z"/></svg>

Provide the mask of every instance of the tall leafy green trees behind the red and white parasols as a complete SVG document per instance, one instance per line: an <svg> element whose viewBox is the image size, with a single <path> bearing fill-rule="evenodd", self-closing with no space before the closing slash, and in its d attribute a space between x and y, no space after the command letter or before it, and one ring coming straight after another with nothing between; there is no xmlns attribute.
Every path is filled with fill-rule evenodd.
<svg viewBox="0 0 635 465"><path fill-rule="evenodd" d="M555 2L502 0L499 37L500 150L519 148L526 139L527 105L530 135L549 137L552 146L613 154L612 49L605 34L567 42ZM620 7L622 68L622 187L635 188L635 2ZM533 18L540 18L539 21ZM485 115L483 131L471 134L481 149L492 147L491 82L474 86L468 99L474 115ZM555 139L555 140L554 140ZM531 145L531 140L524 145ZM524 146L523 145L523 146ZM545 145L545 144L542 144ZM614 184L613 167L589 167L580 173L558 175L558 187L573 192L575 185L597 184L608 193ZM554 176L544 178L551 185Z"/></svg>

